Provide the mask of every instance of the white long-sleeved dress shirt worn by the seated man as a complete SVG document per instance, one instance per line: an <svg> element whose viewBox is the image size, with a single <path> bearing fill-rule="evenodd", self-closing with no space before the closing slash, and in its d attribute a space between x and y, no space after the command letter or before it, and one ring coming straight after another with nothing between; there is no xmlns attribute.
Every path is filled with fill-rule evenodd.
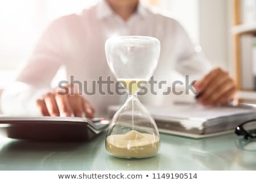
<svg viewBox="0 0 256 182"><path fill-rule="evenodd" d="M210 64L195 51L191 39L179 22L159 10L139 3L126 22L105 1L85 9L81 14L62 16L51 23L40 38L31 59L16 82L2 94L1 107L7 115L37 115L36 98L50 89L52 78L64 66L67 80L91 83L111 75L105 58L105 41L111 36L144 35L158 38L161 53L154 73L156 80L171 80L174 71L201 78ZM113 76L112 76L113 78ZM57 86L57 85L56 85ZM92 89L88 84L88 90ZM96 109L106 113L108 105L118 104L117 94L85 96ZM145 96L146 97L146 96ZM147 97L150 103L161 102L161 94Z"/></svg>

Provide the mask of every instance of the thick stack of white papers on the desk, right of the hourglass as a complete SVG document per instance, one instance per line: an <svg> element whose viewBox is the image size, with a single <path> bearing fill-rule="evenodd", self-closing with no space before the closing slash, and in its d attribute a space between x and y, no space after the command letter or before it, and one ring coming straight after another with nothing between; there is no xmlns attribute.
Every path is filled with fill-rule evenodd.
<svg viewBox="0 0 256 182"><path fill-rule="evenodd" d="M110 106L109 114L113 115L118 108L119 106ZM234 131L237 125L246 120L256 119L256 109L253 107L175 104L147 109L154 117L159 131L192 138Z"/></svg>

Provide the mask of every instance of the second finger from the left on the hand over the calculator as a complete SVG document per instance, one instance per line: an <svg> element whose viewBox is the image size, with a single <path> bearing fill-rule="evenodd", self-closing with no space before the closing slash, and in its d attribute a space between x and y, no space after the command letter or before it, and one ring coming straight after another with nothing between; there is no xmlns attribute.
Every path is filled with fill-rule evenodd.
<svg viewBox="0 0 256 182"><path fill-rule="evenodd" d="M60 115L59 109L55 101L55 95L53 93L48 92L46 95L44 95L44 102L46 103L46 107L49 112L49 115L51 116Z"/></svg>

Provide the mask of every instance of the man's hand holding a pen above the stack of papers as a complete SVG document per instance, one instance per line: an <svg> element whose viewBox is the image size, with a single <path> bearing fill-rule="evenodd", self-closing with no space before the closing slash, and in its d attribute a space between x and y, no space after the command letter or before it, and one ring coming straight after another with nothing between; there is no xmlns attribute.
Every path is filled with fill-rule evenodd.
<svg viewBox="0 0 256 182"><path fill-rule="evenodd" d="M203 105L224 105L234 100L237 86L228 72L221 68L213 69L202 80L193 85L200 94L198 102Z"/></svg>

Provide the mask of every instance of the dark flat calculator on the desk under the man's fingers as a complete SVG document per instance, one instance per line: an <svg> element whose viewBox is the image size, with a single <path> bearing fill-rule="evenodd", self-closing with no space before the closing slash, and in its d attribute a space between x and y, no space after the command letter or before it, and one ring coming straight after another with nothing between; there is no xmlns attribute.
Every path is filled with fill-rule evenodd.
<svg viewBox="0 0 256 182"><path fill-rule="evenodd" d="M108 127L103 118L0 117L0 135L24 140L90 140Z"/></svg>

